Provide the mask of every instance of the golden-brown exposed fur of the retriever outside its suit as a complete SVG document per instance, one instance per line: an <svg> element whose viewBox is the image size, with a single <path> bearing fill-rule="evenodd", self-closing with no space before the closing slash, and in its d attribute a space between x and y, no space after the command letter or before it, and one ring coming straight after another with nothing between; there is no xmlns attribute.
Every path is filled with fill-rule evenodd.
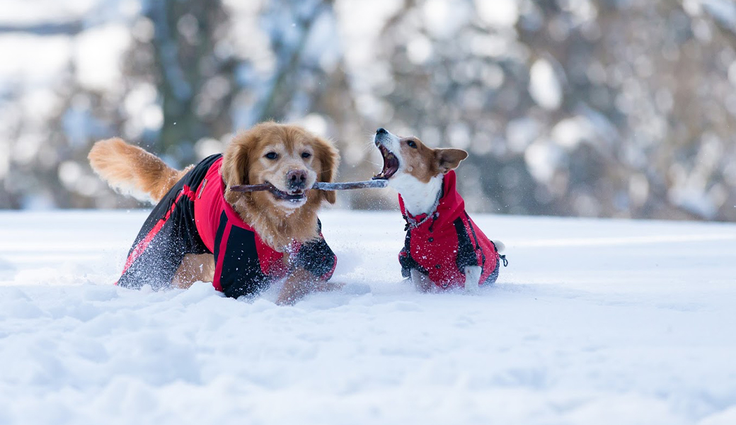
<svg viewBox="0 0 736 425"><path fill-rule="evenodd" d="M264 158L267 152L277 152L277 160ZM309 158L302 158L308 152ZM120 138L98 141L88 155L94 171L118 189L137 189L158 202L191 168L177 171L155 155ZM330 142L294 125L266 122L238 134L223 154L222 178L225 199L235 208L244 222L258 233L263 242L275 250L285 250L292 241L306 242L319 236L317 210L323 200L335 203L334 192L308 190L307 200L299 208L289 208L270 192L240 193L231 186L263 183L268 180L277 189L285 190L286 173L302 169L308 175L310 187L314 181L332 182L339 162L337 150ZM174 275L172 284L189 287L194 281L212 281L214 259L211 254L185 256ZM311 290L327 290L339 284L314 282L309 273L297 270L287 278L279 303L297 301ZM313 280L313 279L312 279ZM305 285L301 287L301 285Z"/></svg>

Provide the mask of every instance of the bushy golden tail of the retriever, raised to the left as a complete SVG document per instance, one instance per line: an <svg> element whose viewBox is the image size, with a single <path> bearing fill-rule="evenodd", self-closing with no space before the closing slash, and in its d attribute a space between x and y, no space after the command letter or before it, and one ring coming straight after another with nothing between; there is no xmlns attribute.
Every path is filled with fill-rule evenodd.
<svg viewBox="0 0 736 425"><path fill-rule="evenodd" d="M188 171L173 169L157 156L121 138L98 141L87 158L94 172L107 184L136 199L154 203Z"/></svg>

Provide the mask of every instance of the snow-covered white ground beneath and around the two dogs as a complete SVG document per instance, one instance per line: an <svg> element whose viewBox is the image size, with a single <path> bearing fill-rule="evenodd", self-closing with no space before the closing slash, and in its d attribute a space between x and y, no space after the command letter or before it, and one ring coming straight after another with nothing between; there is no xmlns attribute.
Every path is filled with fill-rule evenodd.
<svg viewBox="0 0 736 425"><path fill-rule="evenodd" d="M327 211L371 292L284 307L114 287L145 214L0 213L0 424L736 424L736 225L476 215L498 284L422 295Z"/></svg>

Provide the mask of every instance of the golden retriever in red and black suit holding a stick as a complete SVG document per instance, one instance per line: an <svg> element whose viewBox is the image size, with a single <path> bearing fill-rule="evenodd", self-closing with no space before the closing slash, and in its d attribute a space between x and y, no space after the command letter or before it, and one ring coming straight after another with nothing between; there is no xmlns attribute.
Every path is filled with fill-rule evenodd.
<svg viewBox="0 0 736 425"><path fill-rule="evenodd" d="M338 153L325 139L266 122L238 134L224 154L182 171L120 138L98 141L88 158L110 186L157 203L117 284L158 289L212 281L238 297L286 278L278 303L339 287L327 282L336 257L317 218L322 201L335 203L335 193L310 189L336 174ZM256 183L275 189L230 190Z"/></svg>

